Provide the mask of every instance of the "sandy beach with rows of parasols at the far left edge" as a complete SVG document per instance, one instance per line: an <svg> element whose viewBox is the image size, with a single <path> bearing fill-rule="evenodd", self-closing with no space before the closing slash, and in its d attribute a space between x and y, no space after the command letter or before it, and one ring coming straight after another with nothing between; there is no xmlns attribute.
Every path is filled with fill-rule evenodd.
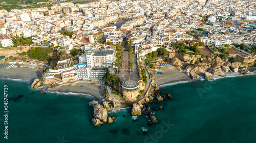
<svg viewBox="0 0 256 143"><path fill-rule="evenodd" d="M34 70L30 68L8 68L5 70L0 70L0 77L13 78L13 79L23 79L23 80L34 80L40 77L42 71Z"/></svg>

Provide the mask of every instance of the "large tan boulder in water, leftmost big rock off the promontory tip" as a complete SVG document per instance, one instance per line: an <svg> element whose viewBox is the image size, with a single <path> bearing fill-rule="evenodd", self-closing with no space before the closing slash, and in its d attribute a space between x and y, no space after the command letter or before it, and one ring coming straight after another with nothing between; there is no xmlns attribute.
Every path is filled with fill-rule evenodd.
<svg viewBox="0 0 256 143"><path fill-rule="evenodd" d="M100 104L97 104L94 107L93 117L96 119L99 119L102 122L107 122L108 121L108 113L106 112L106 108L104 108Z"/></svg>

